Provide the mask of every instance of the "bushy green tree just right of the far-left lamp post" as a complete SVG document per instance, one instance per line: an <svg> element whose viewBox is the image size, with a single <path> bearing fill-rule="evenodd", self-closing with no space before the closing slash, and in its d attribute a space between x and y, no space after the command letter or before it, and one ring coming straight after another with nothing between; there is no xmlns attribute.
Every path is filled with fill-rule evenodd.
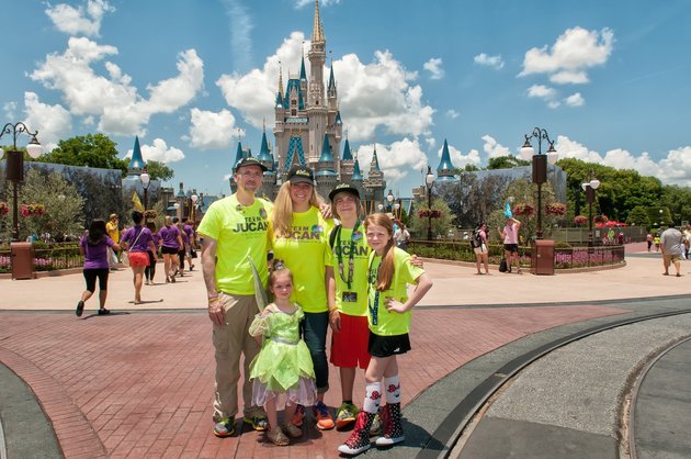
<svg viewBox="0 0 691 459"><path fill-rule="evenodd" d="M41 173L39 169L29 169L20 195L21 204L37 203L46 208L38 216L20 216L20 238L29 234L41 236L50 233L53 237L81 235L83 225L81 211L84 199L77 189L67 182L61 173Z"/></svg>

